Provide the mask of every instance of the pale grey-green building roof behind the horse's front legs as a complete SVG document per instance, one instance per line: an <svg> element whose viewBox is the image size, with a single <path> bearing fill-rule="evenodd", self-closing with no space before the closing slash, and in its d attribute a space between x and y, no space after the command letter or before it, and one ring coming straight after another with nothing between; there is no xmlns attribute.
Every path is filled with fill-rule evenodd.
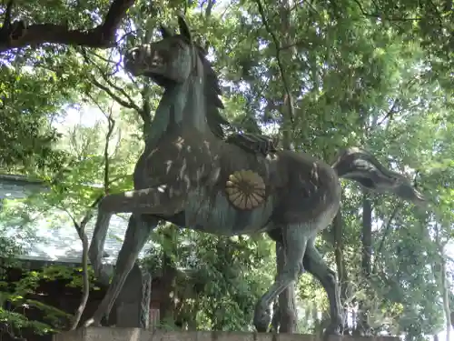
<svg viewBox="0 0 454 341"><path fill-rule="evenodd" d="M49 190L43 182L30 180L26 176L0 175L0 199L24 198L35 191ZM32 244L25 244L25 255L18 256L19 259L43 260L50 262L80 263L82 259L82 242L77 235L72 221L63 211L55 210L53 216L58 221L48 221L43 216L33 224L36 237ZM123 244L123 237L128 225L130 215L113 216L105 239L104 252L108 257L105 262L114 263L120 248ZM91 240L94 231L95 217L86 226L86 235ZM55 225L58 225L57 227ZM21 240L20 226L8 227L8 235L19 236L19 243L26 243ZM145 248L146 250L146 248ZM143 250L141 256L145 252Z"/></svg>

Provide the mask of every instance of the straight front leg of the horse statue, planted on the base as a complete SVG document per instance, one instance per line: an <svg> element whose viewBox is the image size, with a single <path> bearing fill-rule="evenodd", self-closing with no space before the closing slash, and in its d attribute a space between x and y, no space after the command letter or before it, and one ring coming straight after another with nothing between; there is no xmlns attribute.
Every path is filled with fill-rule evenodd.
<svg viewBox="0 0 454 341"><path fill-rule="evenodd" d="M96 309L94 316L85 322L85 326L100 326L101 319L109 315L137 256L139 256L150 233L158 225L159 221L160 219L155 216L135 214L130 216L123 246L116 261L112 283L107 289L103 301Z"/></svg>

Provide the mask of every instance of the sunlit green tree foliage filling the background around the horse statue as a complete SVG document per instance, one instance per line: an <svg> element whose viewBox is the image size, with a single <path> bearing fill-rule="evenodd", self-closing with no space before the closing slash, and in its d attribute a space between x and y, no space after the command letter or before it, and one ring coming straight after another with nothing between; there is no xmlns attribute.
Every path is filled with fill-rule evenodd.
<svg viewBox="0 0 454 341"><path fill-rule="evenodd" d="M353 315L360 314L354 307L368 306L374 333L388 331L414 340L436 335L448 321L442 279L452 286L453 276L448 251L454 218L454 59L449 34L454 14L448 3L268 1L261 4L262 14L256 0L137 0L112 49L44 45L9 51L7 67L0 71L5 116L0 124L0 166L41 176L51 191L9 207L5 221L22 224L15 217L21 215L30 225L41 214L55 226L68 214L79 221L104 192L104 123L92 119L69 130L61 125L54 129L74 111L100 117L113 113L109 189L133 186L129 175L161 90L125 75L120 55L157 38L159 24L175 27L174 15L185 11L196 41L209 43L210 58L222 79L224 114L234 125L281 139L290 134L296 150L327 161L340 147L364 146L423 189L427 211L390 197L371 199L371 272L365 276L364 198L357 186L342 184L341 242L348 274L343 299ZM47 2L45 8L30 4L17 1L16 15L34 23L58 23L65 16L71 27L89 28L99 24L99 14L109 2ZM290 85L292 117L284 115L289 94L283 78ZM331 232L322 234L319 247L335 267L333 245L338 241ZM20 251L8 237L0 243L10 254ZM143 262L154 274L178 270L173 290L180 302L168 325L176 327L176 321L178 327L250 328L254 302L274 276L274 250L268 239L220 238L161 226L150 243L152 251ZM448 274L440 273L444 261ZM192 286L196 292L188 293ZM304 275L297 292L304 302L301 330L318 331L327 317L321 286Z"/></svg>

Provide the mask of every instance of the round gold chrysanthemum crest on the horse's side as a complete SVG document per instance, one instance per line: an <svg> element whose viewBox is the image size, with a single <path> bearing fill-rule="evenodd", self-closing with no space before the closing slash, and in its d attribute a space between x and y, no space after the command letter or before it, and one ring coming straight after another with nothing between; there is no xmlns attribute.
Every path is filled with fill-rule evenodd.
<svg viewBox="0 0 454 341"><path fill-rule="evenodd" d="M241 170L229 176L225 192L233 206L240 209L253 209L265 201L265 183L262 176L252 170Z"/></svg>

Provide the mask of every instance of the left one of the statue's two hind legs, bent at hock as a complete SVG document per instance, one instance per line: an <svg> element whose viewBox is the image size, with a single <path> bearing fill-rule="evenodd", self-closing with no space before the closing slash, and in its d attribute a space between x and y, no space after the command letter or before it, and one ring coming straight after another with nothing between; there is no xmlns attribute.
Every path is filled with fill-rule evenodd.
<svg viewBox="0 0 454 341"><path fill-rule="evenodd" d="M271 315L269 307L271 302L301 275L303 270L302 258L308 242L307 230L308 228L303 224L282 226L286 262L282 271L276 276L272 286L255 307L253 323L260 333L266 333L270 326Z"/></svg>

